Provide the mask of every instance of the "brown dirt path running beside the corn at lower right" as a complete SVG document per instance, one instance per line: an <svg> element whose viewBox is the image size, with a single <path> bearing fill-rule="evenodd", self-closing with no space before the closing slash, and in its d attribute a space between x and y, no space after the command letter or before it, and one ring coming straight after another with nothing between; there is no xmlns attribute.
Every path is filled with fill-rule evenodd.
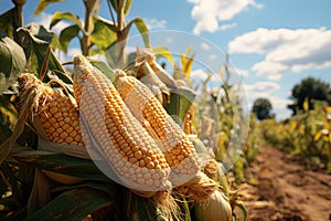
<svg viewBox="0 0 331 221"><path fill-rule="evenodd" d="M265 146L253 164L258 185L244 185L248 220L331 220L331 175L314 172Z"/></svg>

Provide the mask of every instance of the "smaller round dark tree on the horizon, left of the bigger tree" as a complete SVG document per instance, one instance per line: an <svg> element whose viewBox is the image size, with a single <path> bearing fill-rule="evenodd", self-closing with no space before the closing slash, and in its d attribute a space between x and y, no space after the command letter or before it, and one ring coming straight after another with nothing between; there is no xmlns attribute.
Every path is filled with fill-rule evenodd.
<svg viewBox="0 0 331 221"><path fill-rule="evenodd" d="M252 112L256 115L258 120L269 119L275 117L275 114L271 113L273 105L267 98L258 98L254 102Z"/></svg>

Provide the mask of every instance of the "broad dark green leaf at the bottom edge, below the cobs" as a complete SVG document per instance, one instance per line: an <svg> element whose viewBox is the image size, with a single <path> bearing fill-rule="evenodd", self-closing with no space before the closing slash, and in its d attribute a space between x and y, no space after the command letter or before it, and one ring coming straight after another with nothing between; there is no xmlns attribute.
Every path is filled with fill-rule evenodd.
<svg viewBox="0 0 331 221"><path fill-rule="evenodd" d="M113 199L103 191L92 188L77 188L63 192L42 209L31 214L26 221L83 220L92 212L113 203Z"/></svg>

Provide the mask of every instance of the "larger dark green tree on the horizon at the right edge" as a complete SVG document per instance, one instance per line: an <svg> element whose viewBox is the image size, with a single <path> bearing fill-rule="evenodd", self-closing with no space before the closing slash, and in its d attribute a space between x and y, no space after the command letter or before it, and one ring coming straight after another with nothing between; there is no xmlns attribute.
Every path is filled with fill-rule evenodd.
<svg viewBox="0 0 331 221"><path fill-rule="evenodd" d="M293 86L290 98L293 103L288 105L288 108L296 115L298 110L303 109L305 99L308 99L309 109L313 108L313 99L327 101L331 105L331 88L325 82L307 77Z"/></svg>

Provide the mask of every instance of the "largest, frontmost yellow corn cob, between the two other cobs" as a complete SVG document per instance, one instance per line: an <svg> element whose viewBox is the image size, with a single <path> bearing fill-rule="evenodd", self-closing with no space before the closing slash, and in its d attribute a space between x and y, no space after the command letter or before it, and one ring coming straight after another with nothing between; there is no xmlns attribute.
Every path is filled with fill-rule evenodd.
<svg viewBox="0 0 331 221"><path fill-rule="evenodd" d="M81 55L74 59L74 94L87 149L98 149L129 188L167 187L170 168L164 155L113 83Z"/></svg>

